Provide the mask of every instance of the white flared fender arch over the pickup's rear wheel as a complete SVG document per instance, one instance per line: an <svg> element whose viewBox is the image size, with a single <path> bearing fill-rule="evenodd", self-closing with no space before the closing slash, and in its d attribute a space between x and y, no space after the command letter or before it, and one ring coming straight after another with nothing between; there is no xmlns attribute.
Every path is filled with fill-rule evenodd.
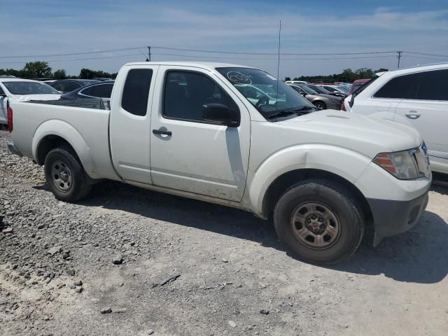
<svg viewBox="0 0 448 336"><path fill-rule="evenodd" d="M78 154L78 158L81 161L85 172L87 172L92 179L97 177L94 173L94 161L92 160L89 146L87 146L87 143L81 134L73 126L62 120L48 120L37 127L33 135L31 146L32 155L36 162L38 162L38 146L41 144L42 139L48 135L57 135L66 140L73 147L76 154Z"/></svg>

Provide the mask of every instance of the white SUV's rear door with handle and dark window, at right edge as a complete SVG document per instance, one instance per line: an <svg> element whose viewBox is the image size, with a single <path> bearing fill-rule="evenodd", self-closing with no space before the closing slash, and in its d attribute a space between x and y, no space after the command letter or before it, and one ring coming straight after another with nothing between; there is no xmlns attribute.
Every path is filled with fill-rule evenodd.
<svg viewBox="0 0 448 336"><path fill-rule="evenodd" d="M413 85L398 105L395 121L407 120L414 126L425 140L431 160L448 168L448 69L402 77Z"/></svg>

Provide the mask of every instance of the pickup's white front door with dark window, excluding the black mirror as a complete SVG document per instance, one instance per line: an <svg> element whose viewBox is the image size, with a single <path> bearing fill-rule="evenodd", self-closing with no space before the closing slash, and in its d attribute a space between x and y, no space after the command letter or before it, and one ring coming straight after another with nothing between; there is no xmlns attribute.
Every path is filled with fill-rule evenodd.
<svg viewBox="0 0 448 336"><path fill-rule="evenodd" d="M157 186L240 201L246 186L250 118L246 106L209 71L161 66L151 120L151 178ZM202 119L202 106L239 111L238 127Z"/></svg>

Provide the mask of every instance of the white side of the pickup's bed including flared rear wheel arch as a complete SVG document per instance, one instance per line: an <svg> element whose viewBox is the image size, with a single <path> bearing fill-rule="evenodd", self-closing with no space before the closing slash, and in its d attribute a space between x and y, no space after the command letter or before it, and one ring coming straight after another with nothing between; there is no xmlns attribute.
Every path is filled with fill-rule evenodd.
<svg viewBox="0 0 448 336"><path fill-rule="evenodd" d="M109 152L110 111L100 109L101 99L84 100L83 107L78 101L11 102L14 144L22 155L42 164L38 160L42 139L59 136L75 149L92 179L117 180Z"/></svg>

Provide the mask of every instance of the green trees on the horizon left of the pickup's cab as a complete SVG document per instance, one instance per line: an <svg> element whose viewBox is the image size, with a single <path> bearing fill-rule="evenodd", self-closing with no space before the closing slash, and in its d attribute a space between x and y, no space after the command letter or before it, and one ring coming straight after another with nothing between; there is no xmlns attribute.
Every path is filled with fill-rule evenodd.
<svg viewBox="0 0 448 336"><path fill-rule="evenodd" d="M48 79L66 79L66 78L82 78L82 79L90 79L90 78L116 78L117 73L109 73L101 70L91 70L83 68L80 70L78 76L69 76L66 74L65 69L57 69L55 72L52 72L50 66L48 66L48 62L36 61L36 62L27 62L23 69L0 69L1 75L12 75L20 78L48 78Z"/></svg>

